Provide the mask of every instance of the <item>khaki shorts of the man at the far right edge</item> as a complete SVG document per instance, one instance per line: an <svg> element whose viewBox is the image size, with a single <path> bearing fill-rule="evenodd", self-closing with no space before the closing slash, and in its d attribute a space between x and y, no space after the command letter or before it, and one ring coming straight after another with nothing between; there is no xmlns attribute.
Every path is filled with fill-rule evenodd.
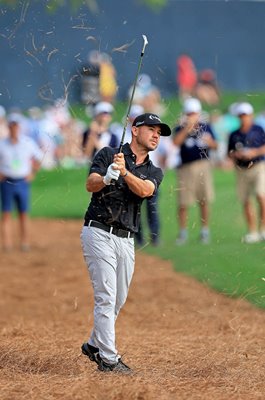
<svg viewBox="0 0 265 400"><path fill-rule="evenodd" d="M252 195L265 196L265 162L251 168L237 168L237 193L243 203Z"/></svg>

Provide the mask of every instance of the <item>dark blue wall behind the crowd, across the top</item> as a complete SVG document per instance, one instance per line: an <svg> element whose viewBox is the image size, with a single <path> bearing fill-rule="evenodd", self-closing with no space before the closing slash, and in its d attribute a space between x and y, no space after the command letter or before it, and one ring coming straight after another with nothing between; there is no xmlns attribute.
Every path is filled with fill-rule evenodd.
<svg viewBox="0 0 265 400"><path fill-rule="evenodd" d="M117 99L133 83L142 34L142 72L163 98L176 95L177 58L211 69L223 91L263 91L265 2L179 0L0 1L0 104L23 109L58 97L82 101L91 52L106 54ZM250 18L251 16L251 18ZM93 55L92 55L93 56ZM84 99L83 99L84 100Z"/></svg>

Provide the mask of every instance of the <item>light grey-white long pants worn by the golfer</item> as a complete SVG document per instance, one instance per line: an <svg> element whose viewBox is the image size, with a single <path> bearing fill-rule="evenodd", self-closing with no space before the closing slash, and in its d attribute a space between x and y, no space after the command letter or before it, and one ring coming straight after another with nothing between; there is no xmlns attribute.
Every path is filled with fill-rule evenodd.
<svg viewBox="0 0 265 400"><path fill-rule="evenodd" d="M84 226L81 244L94 289L94 327L88 343L99 348L103 361L116 363L115 321L134 271L134 239Z"/></svg>

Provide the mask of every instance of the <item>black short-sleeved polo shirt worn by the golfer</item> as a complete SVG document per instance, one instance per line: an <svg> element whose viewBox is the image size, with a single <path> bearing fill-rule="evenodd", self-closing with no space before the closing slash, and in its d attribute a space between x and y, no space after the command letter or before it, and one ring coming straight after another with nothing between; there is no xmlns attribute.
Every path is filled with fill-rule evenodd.
<svg viewBox="0 0 265 400"><path fill-rule="evenodd" d="M89 174L96 172L105 176L115 153L118 153L118 148L104 147L101 149L92 162ZM149 156L142 164L136 165L136 155L128 143L123 146L123 153L126 169L138 178L153 182L156 191L163 179L162 170L153 165ZM85 221L88 222L92 219L130 232L137 232L143 200L128 188L125 179L120 176L115 184L105 186L99 192L92 194Z"/></svg>

